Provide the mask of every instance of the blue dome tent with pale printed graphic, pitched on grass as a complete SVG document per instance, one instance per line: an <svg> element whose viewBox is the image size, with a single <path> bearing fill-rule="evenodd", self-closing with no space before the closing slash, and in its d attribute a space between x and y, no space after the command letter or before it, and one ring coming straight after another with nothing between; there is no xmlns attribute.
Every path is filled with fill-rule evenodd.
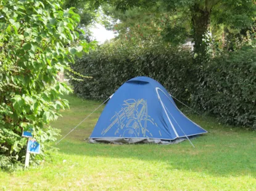
<svg viewBox="0 0 256 191"><path fill-rule="evenodd" d="M207 133L188 119L159 82L128 80L104 108L89 142L172 144Z"/></svg>

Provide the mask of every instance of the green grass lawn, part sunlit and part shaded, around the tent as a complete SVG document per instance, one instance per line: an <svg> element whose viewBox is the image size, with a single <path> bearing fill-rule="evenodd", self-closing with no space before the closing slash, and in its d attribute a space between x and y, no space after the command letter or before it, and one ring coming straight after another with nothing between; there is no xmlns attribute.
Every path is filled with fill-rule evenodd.
<svg viewBox="0 0 256 191"><path fill-rule="evenodd" d="M101 104L66 98L70 110L52 123L62 135ZM84 139L102 109L57 145L52 162L0 172L0 190L256 190L256 132L190 115L211 132L192 139L196 148L188 141L169 146L89 144Z"/></svg>

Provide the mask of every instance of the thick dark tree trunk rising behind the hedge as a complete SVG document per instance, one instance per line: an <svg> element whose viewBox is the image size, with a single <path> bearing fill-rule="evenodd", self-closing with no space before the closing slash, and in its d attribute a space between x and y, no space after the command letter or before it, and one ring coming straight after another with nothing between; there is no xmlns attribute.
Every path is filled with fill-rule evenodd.
<svg viewBox="0 0 256 191"><path fill-rule="evenodd" d="M198 5L191 9L194 37L194 57L196 64L202 64L209 58L207 32L210 25L210 11L202 10Z"/></svg>

